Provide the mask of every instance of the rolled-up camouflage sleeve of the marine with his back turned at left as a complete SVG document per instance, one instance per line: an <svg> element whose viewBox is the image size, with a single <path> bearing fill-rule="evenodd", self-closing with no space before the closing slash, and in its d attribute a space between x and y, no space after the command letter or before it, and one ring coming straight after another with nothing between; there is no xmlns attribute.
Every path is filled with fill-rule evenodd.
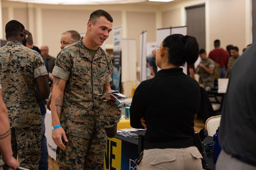
<svg viewBox="0 0 256 170"><path fill-rule="evenodd" d="M41 57L41 55L36 54L34 60L34 78L45 75L48 75L47 69L45 67L45 60Z"/></svg>

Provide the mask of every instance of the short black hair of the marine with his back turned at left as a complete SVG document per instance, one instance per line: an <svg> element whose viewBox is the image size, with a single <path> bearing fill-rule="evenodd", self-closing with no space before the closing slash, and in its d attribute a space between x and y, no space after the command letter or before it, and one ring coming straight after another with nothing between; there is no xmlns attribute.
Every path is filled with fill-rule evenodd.
<svg viewBox="0 0 256 170"><path fill-rule="evenodd" d="M7 37L15 37L19 30L25 30L22 23L16 20L11 20L5 25L5 34Z"/></svg>

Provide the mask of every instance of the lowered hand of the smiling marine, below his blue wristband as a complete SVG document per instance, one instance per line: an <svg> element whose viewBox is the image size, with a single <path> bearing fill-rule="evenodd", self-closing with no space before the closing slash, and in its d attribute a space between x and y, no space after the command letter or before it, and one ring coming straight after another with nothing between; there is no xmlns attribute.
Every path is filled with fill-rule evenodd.
<svg viewBox="0 0 256 170"><path fill-rule="evenodd" d="M62 150L65 150L66 146L63 144L61 137L63 137L65 142L68 142L66 133L62 127L52 130L52 139L54 143Z"/></svg>

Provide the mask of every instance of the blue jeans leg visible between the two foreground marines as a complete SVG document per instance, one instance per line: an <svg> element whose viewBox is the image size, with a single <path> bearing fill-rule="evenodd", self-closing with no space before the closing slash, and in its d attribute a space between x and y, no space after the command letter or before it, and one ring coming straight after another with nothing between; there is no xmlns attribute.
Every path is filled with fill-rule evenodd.
<svg viewBox="0 0 256 170"><path fill-rule="evenodd" d="M39 163L38 170L48 170L48 150L47 150L47 141L45 137L45 115L43 117L43 136L42 136L42 149L41 149L41 159Z"/></svg>

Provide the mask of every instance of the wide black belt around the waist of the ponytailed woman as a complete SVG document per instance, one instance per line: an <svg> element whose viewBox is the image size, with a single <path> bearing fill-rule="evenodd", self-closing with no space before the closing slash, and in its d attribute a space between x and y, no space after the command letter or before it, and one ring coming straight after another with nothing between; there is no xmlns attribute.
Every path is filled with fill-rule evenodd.
<svg viewBox="0 0 256 170"><path fill-rule="evenodd" d="M150 142L144 140L144 149L166 149L166 148L186 148L195 146L194 138L183 140L172 140L168 142Z"/></svg>

